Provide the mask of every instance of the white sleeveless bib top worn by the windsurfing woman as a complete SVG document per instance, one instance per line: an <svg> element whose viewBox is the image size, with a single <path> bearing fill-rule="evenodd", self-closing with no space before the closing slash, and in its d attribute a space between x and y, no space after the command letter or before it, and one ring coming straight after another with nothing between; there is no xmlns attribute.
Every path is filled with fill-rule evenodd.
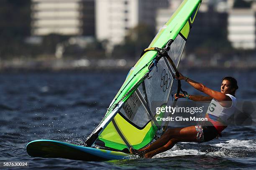
<svg viewBox="0 0 256 170"><path fill-rule="evenodd" d="M232 105L230 107L223 107L220 103L212 99L207 110L207 114L214 115L218 117L218 121L223 123L223 125L228 125L232 120L232 116L236 110L236 97L230 94L226 94L232 99Z"/></svg>

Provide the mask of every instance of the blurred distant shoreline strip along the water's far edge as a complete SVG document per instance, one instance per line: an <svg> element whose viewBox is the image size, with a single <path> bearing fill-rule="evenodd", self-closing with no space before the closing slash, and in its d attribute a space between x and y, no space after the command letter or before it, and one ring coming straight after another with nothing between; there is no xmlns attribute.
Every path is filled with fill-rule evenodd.
<svg viewBox="0 0 256 170"><path fill-rule="evenodd" d="M0 60L0 72L8 71L87 71L87 70L130 70L135 60L124 59L98 59L98 60ZM239 62L230 65L212 65L210 62L179 64L181 70L256 70L256 62Z"/></svg>

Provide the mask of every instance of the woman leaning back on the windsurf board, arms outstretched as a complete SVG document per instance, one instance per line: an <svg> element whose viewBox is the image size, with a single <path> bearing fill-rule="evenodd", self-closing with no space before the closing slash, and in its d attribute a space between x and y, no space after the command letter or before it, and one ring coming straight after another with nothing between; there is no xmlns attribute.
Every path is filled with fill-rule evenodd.
<svg viewBox="0 0 256 170"><path fill-rule="evenodd" d="M190 100L209 101L205 121L203 125L189 126L185 128L169 128L154 143L135 150L130 148L131 153L140 157L152 158L154 155L171 149L178 142L207 142L218 135L221 136L227 125L229 118L233 115L236 107L235 92L238 89L237 81L233 77L224 77L220 86L220 92L212 90L202 83L196 82L179 73L178 80L185 80L195 89L205 93L208 96L189 95ZM175 98L184 98L183 94L175 94Z"/></svg>

